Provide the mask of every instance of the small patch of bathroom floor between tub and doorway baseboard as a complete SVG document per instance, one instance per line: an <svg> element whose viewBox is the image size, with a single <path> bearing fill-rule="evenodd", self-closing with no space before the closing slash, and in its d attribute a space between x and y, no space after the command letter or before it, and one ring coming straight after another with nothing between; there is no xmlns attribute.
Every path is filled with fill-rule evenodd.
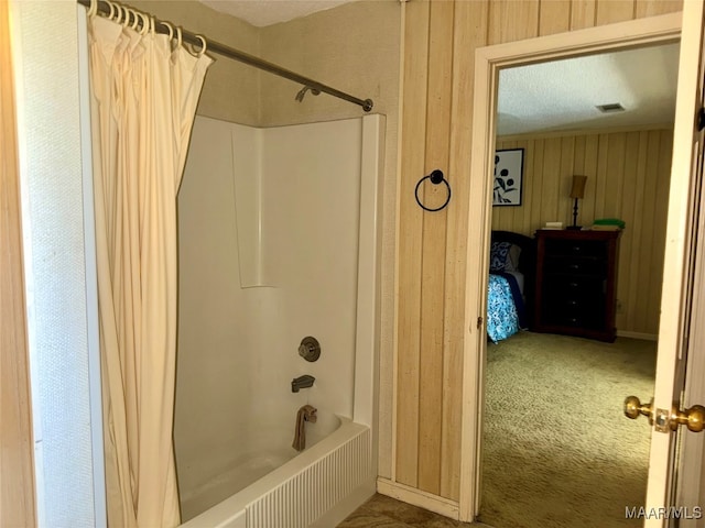
<svg viewBox="0 0 705 528"><path fill-rule="evenodd" d="M465 528L468 522L448 519L391 497L373 495L337 528Z"/></svg>

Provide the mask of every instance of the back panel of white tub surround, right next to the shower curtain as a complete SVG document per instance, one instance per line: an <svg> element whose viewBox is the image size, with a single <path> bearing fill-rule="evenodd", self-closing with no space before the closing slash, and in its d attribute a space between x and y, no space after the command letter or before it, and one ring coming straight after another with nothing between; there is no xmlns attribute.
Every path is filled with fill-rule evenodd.
<svg viewBox="0 0 705 528"><path fill-rule="evenodd" d="M248 135L247 127L236 131ZM254 292L240 288L230 133L224 121L196 118L178 193L174 443L182 495L232 462L253 386L254 358L245 352L257 349Z"/></svg>

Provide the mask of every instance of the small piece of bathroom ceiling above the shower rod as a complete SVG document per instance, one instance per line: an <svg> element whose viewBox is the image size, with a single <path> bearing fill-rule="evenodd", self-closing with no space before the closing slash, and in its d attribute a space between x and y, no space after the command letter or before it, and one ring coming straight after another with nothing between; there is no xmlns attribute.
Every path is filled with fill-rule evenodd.
<svg viewBox="0 0 705 528"><path fill-rule="evenodd" d="M351 0L199 0L221 13L259 28L286 22Z"/></svg>

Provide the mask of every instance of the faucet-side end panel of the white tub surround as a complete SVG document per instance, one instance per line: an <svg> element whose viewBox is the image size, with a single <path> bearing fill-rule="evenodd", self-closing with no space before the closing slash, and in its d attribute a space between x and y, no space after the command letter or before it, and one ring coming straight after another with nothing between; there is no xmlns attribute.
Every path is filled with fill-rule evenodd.
<svg viewBox="0 0 705 528"><path fill-rule="evenodd" d="M259 393L280 402L325 407L352 417L361 119L267 129L262 182L264 266L278 288L258 377ZM297 348L321 342L308 363ZM316 377L291 393L291 380Z"/></svg>

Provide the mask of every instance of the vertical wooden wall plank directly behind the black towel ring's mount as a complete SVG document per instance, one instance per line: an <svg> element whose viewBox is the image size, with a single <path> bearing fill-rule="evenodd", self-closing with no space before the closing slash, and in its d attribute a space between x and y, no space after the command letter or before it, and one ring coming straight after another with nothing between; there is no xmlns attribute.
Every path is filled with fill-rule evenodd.
<svg viewBox="0 0 705 528"><path fill-rule="evenodd" d="M447 175L452 102L453 3L432 2L429 41L429 98L426 110L425 172L440 168ZM448 176L449 177L449 176ZM427 183L427 182L426 182ZM433 196L430 196L433 195ZM447 197L445 185L425 185L427 207L437 208ZM419 488L441 493L441 435L443 409L443 344L445 305L445 250L447 208L423 213L420 376Z"/></svg>

